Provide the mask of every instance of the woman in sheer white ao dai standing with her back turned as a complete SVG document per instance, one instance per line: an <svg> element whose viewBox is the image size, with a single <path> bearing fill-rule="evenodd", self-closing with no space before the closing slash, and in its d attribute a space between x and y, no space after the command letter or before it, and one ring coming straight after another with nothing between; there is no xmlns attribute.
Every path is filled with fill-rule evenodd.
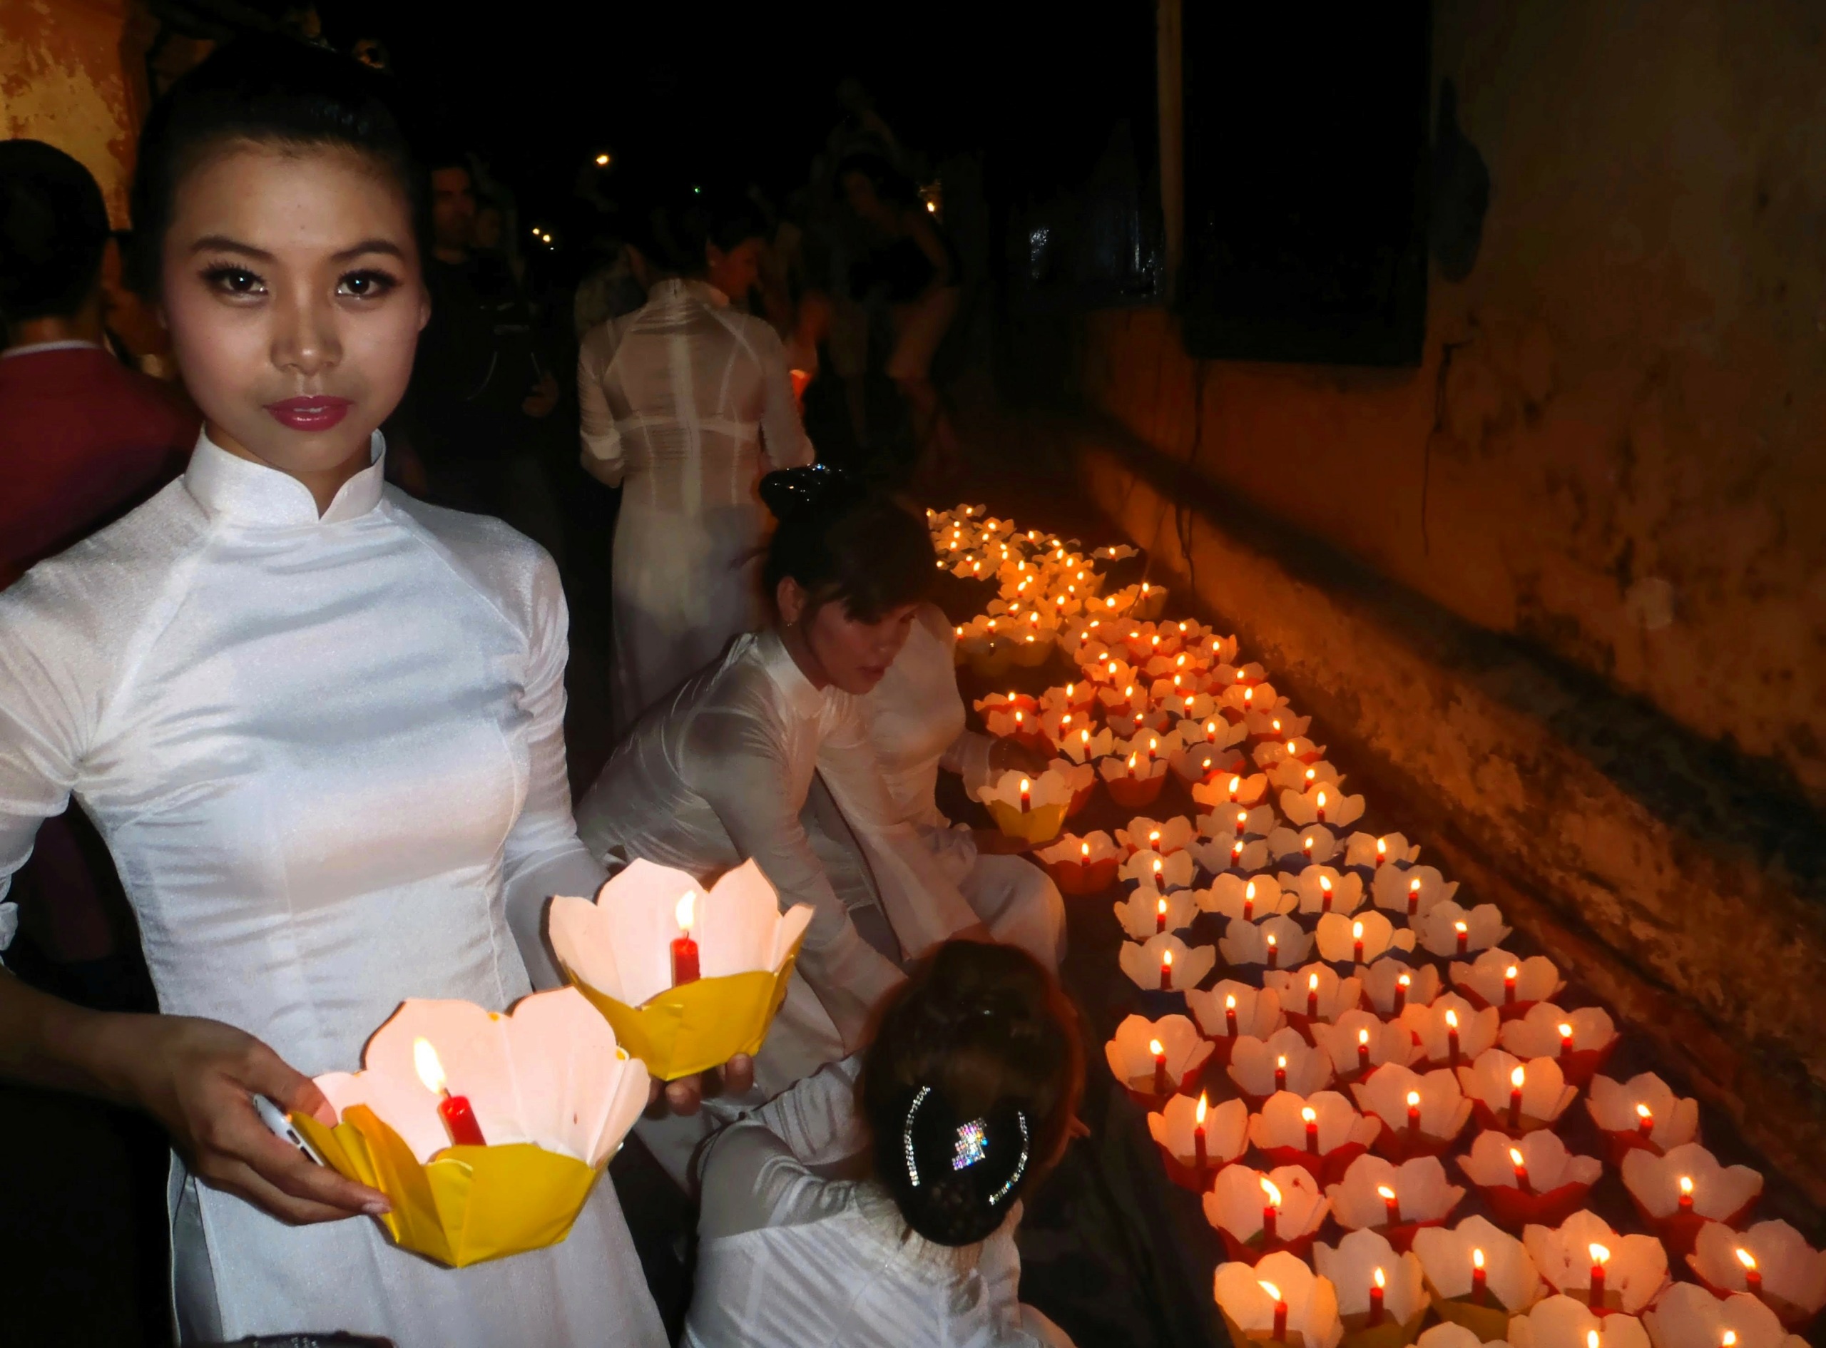
<svg viewBox="0 0 1826 1348"><path fill-rule="evenodd" d="M730 307L760 276L752 208L690 208L656 250L670 274L577 353L582 466L621 486L610 574L617 738L729 639L767 621L767 469L813 460L780 336ZM670 254L670 256L665 256Z"/></svg>

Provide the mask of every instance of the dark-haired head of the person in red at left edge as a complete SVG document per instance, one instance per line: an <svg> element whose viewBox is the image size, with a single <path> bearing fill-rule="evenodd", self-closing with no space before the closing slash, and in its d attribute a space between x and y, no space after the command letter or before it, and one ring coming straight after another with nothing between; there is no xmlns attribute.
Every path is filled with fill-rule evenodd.
<svg viewBox="0 0 1826 1348"><path fill-rule="evenodd" d="M42 141L0 141L0 325L73 318L100 294L106 247L89 170Z"/></svg>

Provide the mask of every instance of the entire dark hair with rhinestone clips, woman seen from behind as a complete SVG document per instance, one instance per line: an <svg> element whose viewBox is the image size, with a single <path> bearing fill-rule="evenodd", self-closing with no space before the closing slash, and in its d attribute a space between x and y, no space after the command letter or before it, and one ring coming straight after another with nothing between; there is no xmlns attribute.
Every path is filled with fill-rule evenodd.
<svg viewBox="0 0 1826 1348"><path fill-rule="evenodd" d="M891 995L862 1065L875 1176L922 1237L975 1244L1065 1151L1083 1089L1057 979L1015 946L950 941Z"/></svg>

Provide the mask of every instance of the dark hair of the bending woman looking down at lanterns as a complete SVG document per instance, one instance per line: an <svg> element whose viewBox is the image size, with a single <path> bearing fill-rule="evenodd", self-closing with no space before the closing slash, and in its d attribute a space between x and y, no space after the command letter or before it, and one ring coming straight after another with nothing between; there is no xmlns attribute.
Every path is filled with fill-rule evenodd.
<svg viewBox="0 0 1826 1348"><path fill-rule="evenodd" d="M807 612L842 603L862 623L917 605L933 586L937 552L911 506L842 469L789 468L761 479L780 528L767 544L767 594L798 581Z"/></svg>

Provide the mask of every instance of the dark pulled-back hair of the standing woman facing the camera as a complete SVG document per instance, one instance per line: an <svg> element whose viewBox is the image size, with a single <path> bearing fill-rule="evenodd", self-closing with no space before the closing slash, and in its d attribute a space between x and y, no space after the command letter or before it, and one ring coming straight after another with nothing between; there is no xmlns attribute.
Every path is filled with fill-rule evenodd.
<svg viewBox="0 0 1826 1348"><path fill-rule="evenodd" d="M159 261L184 175L225 142L287 150L347 148L373 159L405 194L420 254L431 212L398 110L396 84L349 57L278 37L236 38L173 84L146 117L133 174L130 279L159 292Z"/></svg>

